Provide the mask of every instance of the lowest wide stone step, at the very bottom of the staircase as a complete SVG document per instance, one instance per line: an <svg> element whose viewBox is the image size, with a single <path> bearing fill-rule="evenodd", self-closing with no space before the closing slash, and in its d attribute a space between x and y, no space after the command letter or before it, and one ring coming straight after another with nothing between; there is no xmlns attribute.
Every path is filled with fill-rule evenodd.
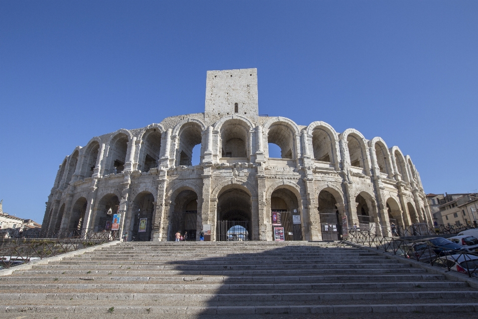
<svg viewBox="0 0 478 319"><path fill-rule="evenodd" d="M0 306L1 313L138 314L138 315L258 315L331 313L475 313L478 303L279 305L279 306Z"/></svg>

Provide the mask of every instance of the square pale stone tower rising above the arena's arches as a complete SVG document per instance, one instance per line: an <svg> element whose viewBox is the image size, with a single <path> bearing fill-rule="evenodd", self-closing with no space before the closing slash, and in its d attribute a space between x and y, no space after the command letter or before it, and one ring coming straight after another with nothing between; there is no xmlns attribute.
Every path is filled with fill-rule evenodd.
<svg viewBox="0 0 478 319"><path fill-rule="evenodd" d="M205 117L236 114L257 117L257 69L208 71Z"/></svg>

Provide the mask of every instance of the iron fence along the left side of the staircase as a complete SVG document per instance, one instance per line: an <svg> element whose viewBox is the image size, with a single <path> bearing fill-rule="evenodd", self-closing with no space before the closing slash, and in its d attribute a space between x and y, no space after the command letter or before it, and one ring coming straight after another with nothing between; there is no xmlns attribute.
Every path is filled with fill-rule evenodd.
<svg viewBox="0 0 478 319"><path fill-rule="evenodd" d="M0 268L29 263L47 257L96 246L118 238L116 231L85 231L78 236L66 237L63 232L55 238L19 238L8 241L0 248Z"/></svg>

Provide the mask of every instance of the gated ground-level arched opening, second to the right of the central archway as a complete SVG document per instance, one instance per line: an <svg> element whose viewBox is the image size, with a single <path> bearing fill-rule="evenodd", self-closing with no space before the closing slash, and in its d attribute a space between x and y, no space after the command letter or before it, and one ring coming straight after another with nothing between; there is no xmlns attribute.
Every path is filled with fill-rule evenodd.
<svg viewBox="0 0 478 319"><path fill-rule="evenodd" d="M337 209L335 196L327 190L321 190L317 208L319 210L322 240L342 239L341 216Z"/></svg>

